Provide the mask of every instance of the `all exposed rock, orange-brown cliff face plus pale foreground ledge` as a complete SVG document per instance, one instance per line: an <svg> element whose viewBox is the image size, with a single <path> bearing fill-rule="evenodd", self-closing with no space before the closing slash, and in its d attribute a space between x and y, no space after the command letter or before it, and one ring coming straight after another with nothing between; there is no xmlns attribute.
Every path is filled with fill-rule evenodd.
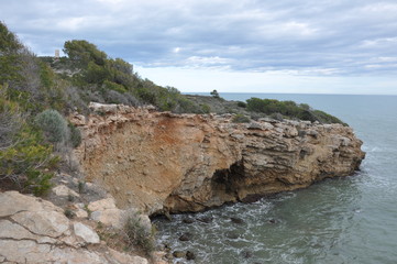
<svg viewBox="0 0 397 264"><path fill-rule="evenodd" d="M84 136L74 153L78 176L59 173L49 201L0 193L0 262L168 263L170 249L151 256L136 249L123 252L129 216L139 216L148 232L148 216L304 188L353 174L365 156L352 129L341 124L233 123L232 114L90 107L89 117L69 117ZM194 252L173 253L195 257Z"/></svg>

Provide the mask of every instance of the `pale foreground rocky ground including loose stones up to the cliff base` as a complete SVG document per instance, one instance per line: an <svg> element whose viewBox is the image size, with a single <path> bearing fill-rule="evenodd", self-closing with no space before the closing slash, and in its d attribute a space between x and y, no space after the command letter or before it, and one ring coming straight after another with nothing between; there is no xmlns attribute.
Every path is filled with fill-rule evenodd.
<svg viewBox="0 0 397 264"><path fill-rule="evenodd" d="M151 221L118 209L100 187L59 174L46 199L0 193L0 263L168 263L165 253L128 248L125 219L139 216L148 230Z"/></svg>

